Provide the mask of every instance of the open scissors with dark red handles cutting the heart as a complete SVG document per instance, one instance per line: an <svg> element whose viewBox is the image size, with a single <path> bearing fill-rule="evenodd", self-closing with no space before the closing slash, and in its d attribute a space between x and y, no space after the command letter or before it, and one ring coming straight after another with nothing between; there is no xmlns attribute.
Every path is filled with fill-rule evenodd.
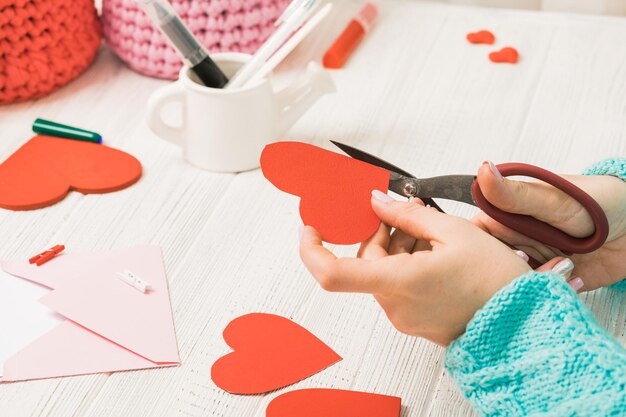
<svg viewBox="0 0 626 417"><path fill-rule="evenodd" d="M600 205L586 192L565 178L534 165L511 162L497 165L502 176L523 175L547 182L567 193L587 210L595 231L591 236L577 238L542 222L532 216L509 213L491 204L483 195L476 176L444 175L432 178L416 178L408 172L343 143L331 142L350 157L389 171L389 190L404 197L417 197L444 212L432 198L460 201L480 208L489 217L538 242L559 249L566 255L589 253L599 249L609 234L609 223Z"/></svg>

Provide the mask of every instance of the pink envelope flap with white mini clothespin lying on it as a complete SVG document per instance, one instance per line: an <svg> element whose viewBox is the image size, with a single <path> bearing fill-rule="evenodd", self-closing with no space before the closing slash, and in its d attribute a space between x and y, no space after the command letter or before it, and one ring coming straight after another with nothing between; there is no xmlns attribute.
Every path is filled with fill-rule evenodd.
<svg viewBox="0 0 626 417"><path fill-rule="evenodd" d="M39 301L69 320L152 362L179 362L160 248L71 254L38 268L9 263L6 268L54 288ZM125 270L152 289L144 294L120 280L117 274Z"/></svg>

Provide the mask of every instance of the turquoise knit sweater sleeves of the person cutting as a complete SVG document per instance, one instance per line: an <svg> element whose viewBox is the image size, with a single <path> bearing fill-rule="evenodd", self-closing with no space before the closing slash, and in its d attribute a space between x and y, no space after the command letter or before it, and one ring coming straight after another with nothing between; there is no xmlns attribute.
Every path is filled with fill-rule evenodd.
<svg viewBox="0 0 626 417"><path fill-rule="evenodd" d="M626 158L585 174L626 180ZM552 273L494 295L450 345L446 368L483 416L626 416L626 350Z"/></svg>

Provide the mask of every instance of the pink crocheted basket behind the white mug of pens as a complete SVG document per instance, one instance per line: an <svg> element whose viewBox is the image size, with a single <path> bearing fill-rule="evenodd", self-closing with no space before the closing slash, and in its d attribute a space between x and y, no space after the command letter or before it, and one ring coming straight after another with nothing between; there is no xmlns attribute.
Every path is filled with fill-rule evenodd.
<svg viewBox="0 0 626 417"><path fill-rule="evenodd" d="M209 52L253 53L274 30L290 0L170 0L174 10ZM104 36L131 68L176 78L182 61L136 6L137 0L103 0Z"/></svg>

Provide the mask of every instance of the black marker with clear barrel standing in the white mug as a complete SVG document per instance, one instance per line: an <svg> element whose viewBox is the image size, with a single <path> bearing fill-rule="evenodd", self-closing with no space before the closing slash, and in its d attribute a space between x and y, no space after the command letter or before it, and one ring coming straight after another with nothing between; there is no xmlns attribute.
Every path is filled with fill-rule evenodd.
<svg viewBox="0 0 626 417"><path fill-rule="evenodd" d="M185 64L204 85L222 88L228 83L226 75L211 60L167 0L137 0L137 3L170 40Z"/></svg>

